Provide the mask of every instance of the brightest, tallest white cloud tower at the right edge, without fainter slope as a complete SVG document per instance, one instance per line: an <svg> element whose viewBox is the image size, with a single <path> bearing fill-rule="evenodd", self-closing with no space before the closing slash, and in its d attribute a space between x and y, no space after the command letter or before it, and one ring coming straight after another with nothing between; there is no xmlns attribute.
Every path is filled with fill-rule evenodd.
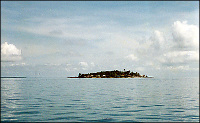
<svg viewBox="0 0 200 123"><path fill-rule="evenodd" d="M174 46L163 54L164 64L178 64L199 61L199 28L187 21L176 21L172 25ZM182 67L181 67L182 68Z"/></svg>

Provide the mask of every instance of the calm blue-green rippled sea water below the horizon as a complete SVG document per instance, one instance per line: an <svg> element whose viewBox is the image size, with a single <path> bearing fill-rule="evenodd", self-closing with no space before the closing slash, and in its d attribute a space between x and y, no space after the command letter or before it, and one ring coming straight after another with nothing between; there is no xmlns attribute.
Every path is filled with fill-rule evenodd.
<svg viewBox="0 0 200 123"><path fill-rule="evenodd" d="M199 121L199 78L2 78L1 121Z"/></svg>

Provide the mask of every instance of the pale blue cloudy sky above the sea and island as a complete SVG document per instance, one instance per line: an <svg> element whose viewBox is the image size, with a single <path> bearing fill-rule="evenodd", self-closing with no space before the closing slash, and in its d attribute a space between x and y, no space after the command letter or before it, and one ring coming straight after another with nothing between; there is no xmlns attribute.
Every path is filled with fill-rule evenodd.
<svg viewBox="0 0 200 123"><path fill-rule="evenodd" d="M199 1L1 1L1 76L199 76Z"/></svg>

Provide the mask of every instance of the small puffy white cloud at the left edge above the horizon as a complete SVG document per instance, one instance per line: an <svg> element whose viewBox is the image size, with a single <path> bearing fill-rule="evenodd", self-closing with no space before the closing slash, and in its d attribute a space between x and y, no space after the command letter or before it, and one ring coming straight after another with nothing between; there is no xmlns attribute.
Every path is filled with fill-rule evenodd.
<svg viewBox="0 0 200 123"><path fill-rule="evenodd" d="M19 61L21 60L21 50L17 49L14 44L7 42L1 44L1 61Z"/></svg>

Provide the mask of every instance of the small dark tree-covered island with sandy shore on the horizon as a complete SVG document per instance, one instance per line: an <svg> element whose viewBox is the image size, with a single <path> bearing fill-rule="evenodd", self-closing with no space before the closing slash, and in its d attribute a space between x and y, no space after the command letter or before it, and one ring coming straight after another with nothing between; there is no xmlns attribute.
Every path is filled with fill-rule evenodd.
<svg viewBox="0 0 200 123"><path fill-rule="evenodd" d="M129 71L101 71L96 73L81 74L79 73L78 77L68 77L68 78L153 78L148 77L147 75L140 75L138 72Z"/></svg>

